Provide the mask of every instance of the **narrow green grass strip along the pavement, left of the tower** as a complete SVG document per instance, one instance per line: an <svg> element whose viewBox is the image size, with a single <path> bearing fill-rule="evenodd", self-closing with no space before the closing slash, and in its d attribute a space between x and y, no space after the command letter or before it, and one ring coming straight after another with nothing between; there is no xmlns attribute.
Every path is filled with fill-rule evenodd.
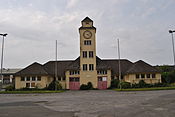
<svg viewBox="0 0 175 117"><path fill-rule="evenodd" d="M60 91L49 91L49 90L40 90L40 91L0 91L0 94L37 94L37 93L61 93Z"/></svg>

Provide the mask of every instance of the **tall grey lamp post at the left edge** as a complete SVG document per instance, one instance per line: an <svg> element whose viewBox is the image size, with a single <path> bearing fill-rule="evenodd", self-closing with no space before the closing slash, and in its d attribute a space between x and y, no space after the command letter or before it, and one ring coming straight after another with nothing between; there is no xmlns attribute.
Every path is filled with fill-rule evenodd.
<svg viewBox="0 0 175 117"><path fill-rule="evenodd" d="M2 88L2 82L3 82L3 75L2 75L2 69L3 69L3 55L4 55L4 37L7 36L7 33L0 34L2 36L2 52L1 52L1 78L0 78L0 90Z"/></svg>

